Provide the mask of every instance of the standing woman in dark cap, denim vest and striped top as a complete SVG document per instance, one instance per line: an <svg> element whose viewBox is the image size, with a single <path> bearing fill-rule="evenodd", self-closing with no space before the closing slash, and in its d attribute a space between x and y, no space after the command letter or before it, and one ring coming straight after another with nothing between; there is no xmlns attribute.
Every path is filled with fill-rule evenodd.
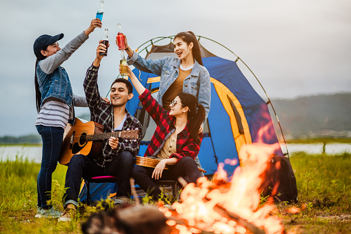
<svg viewBox="0 0 351 234"><path fill-rule="evenodd" d="M35 217L60 217L61 213L50 204L52 173L56 169L63 133L68 122L74 124L73 106L88 106L85 97L73 95L70 79L61 67L81 46L95 28L101 28L100 19L93 19L87 30L68 42L62 49L59 41L63 34L41 35L34 41L35 92L37 112L35 126L43 141L41 168L37 177L38 209Z"/></svg>

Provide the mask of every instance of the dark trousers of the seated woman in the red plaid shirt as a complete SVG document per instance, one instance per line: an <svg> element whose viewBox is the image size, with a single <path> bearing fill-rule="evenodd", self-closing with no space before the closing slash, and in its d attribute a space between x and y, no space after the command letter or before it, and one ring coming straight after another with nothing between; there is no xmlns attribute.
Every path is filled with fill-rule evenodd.
<svg viewBox="0 0 351 234"><path fill-rule="evenodd" d="M135 182L139 184L140 188L143 188L143 191L157 201L161 195L161 190L159 189L159 186L155 184L156 179L151 178L153 171L154 168L134 166L132 177ZM163 170L161 179L177 180L178 177L183 177L188 183L197 182L197 179L201 177L201 174L194 159L191 157L182 157L177 164L170 166L168 170Z"/></svg>

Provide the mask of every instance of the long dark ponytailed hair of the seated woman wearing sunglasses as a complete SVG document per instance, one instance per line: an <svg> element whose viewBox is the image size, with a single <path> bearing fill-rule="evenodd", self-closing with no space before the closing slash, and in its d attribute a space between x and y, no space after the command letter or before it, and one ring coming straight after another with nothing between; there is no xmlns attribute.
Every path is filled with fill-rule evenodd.
<svg viewBox="0 0 351 234"><path fill-rule="evenodd" d="M200 142L199 129L205 119L205 108L197 102L197 98L189 93L181 92L178 95L183 106L188 106L188 119L190 119L189 132L190 136L196 142Z"/></svg>

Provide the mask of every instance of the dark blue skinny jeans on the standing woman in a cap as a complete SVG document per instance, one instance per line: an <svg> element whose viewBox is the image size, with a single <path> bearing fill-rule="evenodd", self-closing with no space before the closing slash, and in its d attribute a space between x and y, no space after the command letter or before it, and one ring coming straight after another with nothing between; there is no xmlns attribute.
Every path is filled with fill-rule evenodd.
<svg viewBox="0 0 351 234"><path fill-rule="evenodd" d="M59 127L37 126L38 133L43 141L41 167L37 177L38 206L44 209L51 208L51 179L59 159L63 141L64 129Z"/></svg>

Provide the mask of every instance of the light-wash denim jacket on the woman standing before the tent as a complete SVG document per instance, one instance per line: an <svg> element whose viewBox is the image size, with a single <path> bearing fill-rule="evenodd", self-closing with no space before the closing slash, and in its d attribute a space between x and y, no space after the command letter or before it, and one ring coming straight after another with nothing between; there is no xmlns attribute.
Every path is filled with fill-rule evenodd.
<svg viewBox="0 0 351 234"><path fill-rule="evenodd" d="M143 59L137 52L134 52L131 58L128 57L128 65L161 77L159 94L156 99L162 105L162 96L178 78L181 61L174 57L163 57L157 60ZM205 119L207 119L211 103L210 74L196 60L192 72L183 81L183 92L197 97L199 104L205 108Z"/></svg>

